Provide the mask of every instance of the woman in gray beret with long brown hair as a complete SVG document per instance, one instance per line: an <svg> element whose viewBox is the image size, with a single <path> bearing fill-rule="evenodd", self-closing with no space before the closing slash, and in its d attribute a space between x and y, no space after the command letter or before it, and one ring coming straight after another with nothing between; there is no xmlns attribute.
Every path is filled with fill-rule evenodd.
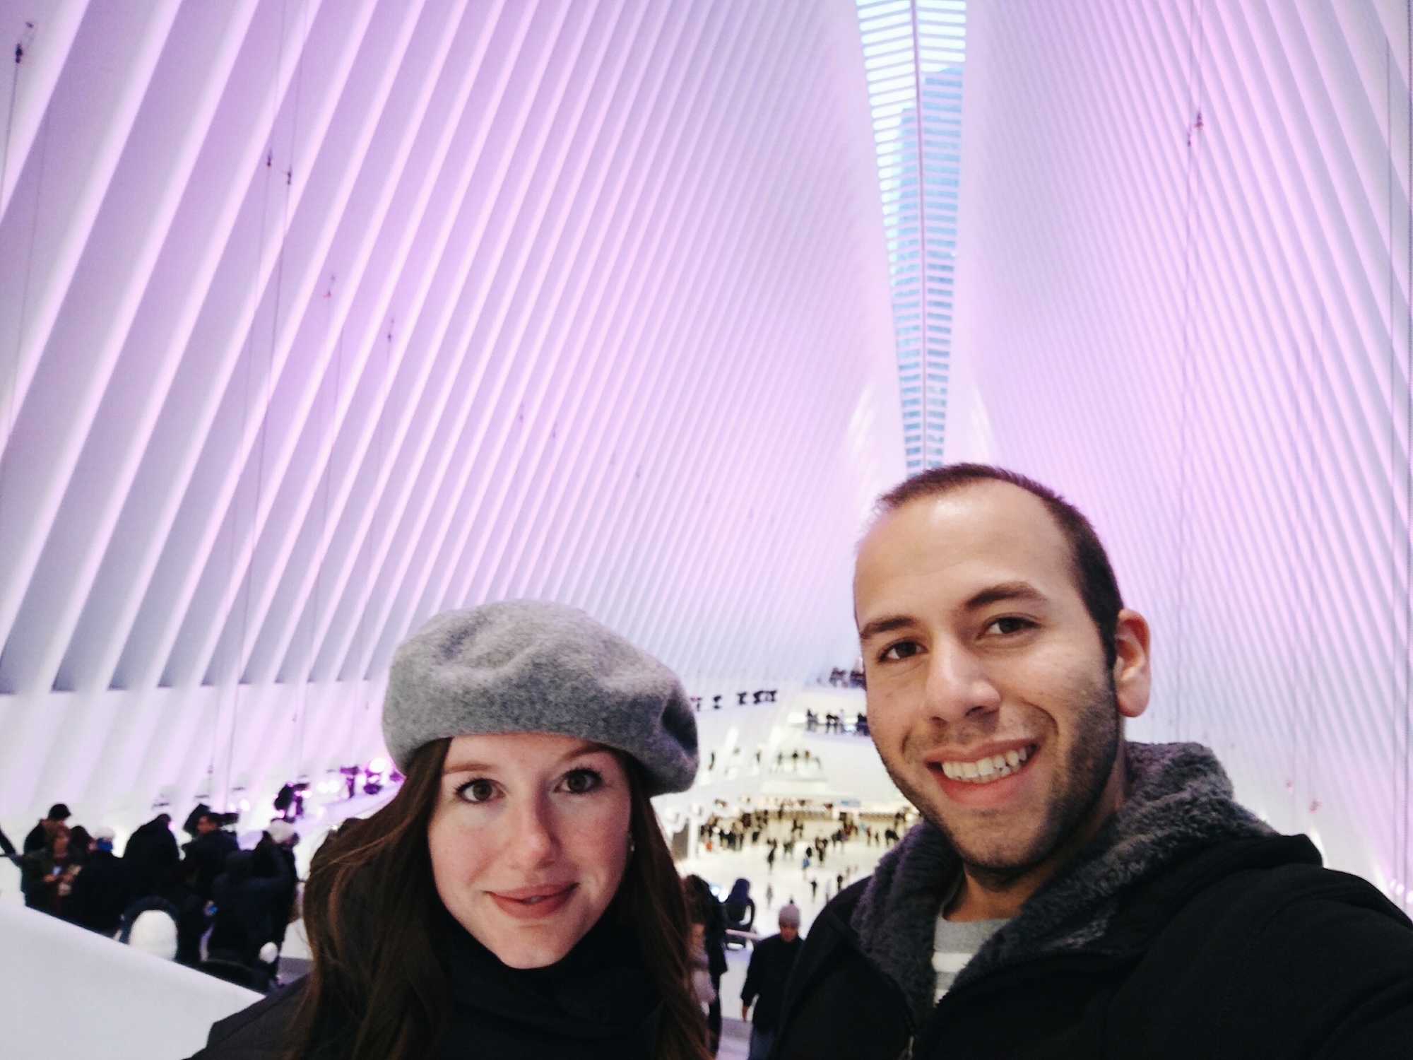
<svg viewBox="0 0 1413 1060"><path fill-rule="evenodd" d="M697 772L677 678L579 611L490 603L398 647L383 734L406 780L315 855L311 974L198 1057L704 1060L649 801Z"/></svg>

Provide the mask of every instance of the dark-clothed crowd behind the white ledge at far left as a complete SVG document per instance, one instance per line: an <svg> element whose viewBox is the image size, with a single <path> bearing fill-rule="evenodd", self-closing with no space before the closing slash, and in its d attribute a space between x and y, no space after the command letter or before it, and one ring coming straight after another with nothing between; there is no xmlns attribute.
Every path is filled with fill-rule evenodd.
<svg viewBox="0 0 1413 1060"><path fill-rule="evenodd" d="M21 849L0 834L30 909L253 989L273 985L295 906L294 825L273 820L246 851L235 817L202 803L182 825L188 842L161 813L119 855L112 828L72 817L55 803Z"/></svg>

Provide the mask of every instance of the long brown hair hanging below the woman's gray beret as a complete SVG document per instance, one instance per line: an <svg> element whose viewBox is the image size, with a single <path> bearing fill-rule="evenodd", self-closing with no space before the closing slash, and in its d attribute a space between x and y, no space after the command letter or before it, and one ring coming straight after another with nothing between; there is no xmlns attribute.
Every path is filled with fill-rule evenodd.
<svg viewBox="0 0 1413 1060"><path fill-rule="evenodd" d="M421 1060L445 1036L451 991L431 941L441 899L427 825L449 746L449 739L439 739L418 748L393 800L366 820L345 823L315 854L304 892L314 967L285 1060ZM642 766L627 756L622 760L634 849L613 906L636 927L663 999L653 1056L708 1060L677 869Z"/></svg>

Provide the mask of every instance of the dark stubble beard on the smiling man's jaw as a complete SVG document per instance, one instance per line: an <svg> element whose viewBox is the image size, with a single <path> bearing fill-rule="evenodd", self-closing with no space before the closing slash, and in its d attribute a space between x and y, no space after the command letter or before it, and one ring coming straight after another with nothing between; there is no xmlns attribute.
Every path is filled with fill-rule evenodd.
<svg viewBox="0 0 1413 1060"><path fill-rule="evenodd" d="M947 837L968 873L982 886L999 890L1050 858L1089 817L1104 794L1113 773L1123 732L1113 678L1111 674L1105 674L1105 678L1075 697L1082 707L1075 712L1078 724L1074 742L1060 784L1044 807L1043 820L1029 838L1007 835L999 844L976 842L974 835L947 823L945 814L937 808L937 803L945 796L935 784L930 790L918 789L904 770L896 769L894 763L879 755L893 783L918 813ZM935 746L935 741L933 745ZM921 753L926 753L926 748L914 755L909 753L904 745L907 759L920 758ZM975 832L976 828L968 831ZM1019 849L1013 848L1015 838L1024 838Z"/></svg>

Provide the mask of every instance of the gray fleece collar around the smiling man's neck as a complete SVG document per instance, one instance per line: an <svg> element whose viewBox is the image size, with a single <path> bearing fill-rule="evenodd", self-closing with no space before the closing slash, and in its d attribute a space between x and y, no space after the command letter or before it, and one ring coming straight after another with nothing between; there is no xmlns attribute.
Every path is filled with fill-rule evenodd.
<svg viewBox="0 0 1413 1060"><path fill-rule="evenodd" d="M1226 772L1200 743L1129 743L1129 799L1075 858L957 977L1078 950L1109 926L1123 893L1190 854L1228 840L1275 835L1232 797ZM933 936L961 859L923 821L879 862L851 924L863 953L907 995L921 1020L933 1008Z"/></svg>

